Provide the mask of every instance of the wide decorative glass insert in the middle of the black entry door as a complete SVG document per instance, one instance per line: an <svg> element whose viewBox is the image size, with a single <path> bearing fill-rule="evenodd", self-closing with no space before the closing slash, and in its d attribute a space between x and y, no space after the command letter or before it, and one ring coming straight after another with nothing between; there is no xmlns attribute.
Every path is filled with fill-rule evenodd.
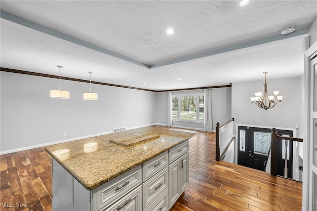
<svg viewBox="0 0 317 211"><path fill-rule="evenodd" d="M254 132L253 153L268 155L269 146L271 144L271 133Z"/></svg>

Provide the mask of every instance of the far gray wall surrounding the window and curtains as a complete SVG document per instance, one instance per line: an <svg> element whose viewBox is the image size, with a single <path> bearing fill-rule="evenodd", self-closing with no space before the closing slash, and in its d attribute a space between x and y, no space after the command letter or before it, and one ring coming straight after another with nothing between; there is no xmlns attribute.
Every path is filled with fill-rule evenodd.
<svg viewBox="0 0 317 211"><path fill-rule="evenodd" d="M188 93L204 93L202 90L189 90L181 92L173 92L174 94L188 94ZM158 93L158 116L157 123L167 123L167 92ZM211 110L212 110L212 129L215 131L216 123L225 123L231 119L231 87L215 88L211 91ZM204 124L193 122L173 121L174 126L204 129Z"/></svg>

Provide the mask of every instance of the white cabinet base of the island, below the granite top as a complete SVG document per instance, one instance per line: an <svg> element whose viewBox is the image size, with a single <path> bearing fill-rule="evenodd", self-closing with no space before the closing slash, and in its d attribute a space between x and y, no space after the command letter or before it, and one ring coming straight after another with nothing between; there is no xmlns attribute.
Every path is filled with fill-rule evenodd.
<svg viewBox="0 0 317 211"><path fill-rule="evenodd" d="M189 183L188 140L93 190L52 160L53 211L168 211Z"/></svg>

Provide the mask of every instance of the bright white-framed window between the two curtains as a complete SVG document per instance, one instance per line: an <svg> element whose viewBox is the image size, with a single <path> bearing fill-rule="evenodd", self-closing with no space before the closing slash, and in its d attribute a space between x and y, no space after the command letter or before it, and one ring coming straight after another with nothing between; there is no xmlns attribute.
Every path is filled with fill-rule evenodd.
<svg viewBox="0 0 317 211"><path fill-rule="evenodd" d="M184 121L204 121L204 96L173 96L172 117Z"/></svg>

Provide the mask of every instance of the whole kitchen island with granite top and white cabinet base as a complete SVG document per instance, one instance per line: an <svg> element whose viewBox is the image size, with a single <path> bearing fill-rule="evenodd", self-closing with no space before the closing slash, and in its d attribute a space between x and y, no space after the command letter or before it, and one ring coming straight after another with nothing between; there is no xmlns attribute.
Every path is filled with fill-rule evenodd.
<svg viewBox="0 0 317 211"><path fill-rule="evenodd" d="M48 146L52 210L169 210L188 185L194 135L149 126Z"/></svg>

